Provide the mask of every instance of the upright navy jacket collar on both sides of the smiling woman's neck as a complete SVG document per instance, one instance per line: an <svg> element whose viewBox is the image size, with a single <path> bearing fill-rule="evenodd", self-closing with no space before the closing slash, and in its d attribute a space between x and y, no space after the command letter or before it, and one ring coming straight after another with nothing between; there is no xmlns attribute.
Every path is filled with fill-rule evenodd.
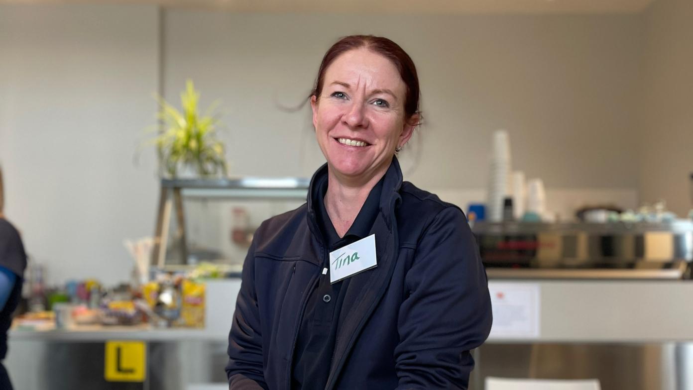
<svg viewBox="0 0 693 390"><path fill-rule="evenodd" d="M316 237L322 237L322 233L319 229L319 223L317 222L316 213L319 213L317 208L319 204L314 202L313 193L322 186L323 181L327 180L327 163L324 163L317 171L313 174L310 179L310 186L308 187L308 199L306 200L306 206L308 206L308 227L310 231ZM392 229L394 217L392 215L392 202L396 202L400 199L399 189L402 186L402 170L399 166L399 161L397 157L392 157L392 162L390 163L387 172L385 172L385 179L383 179L383 191L380 193L380 214L385 218L387 227Z"/></svg>

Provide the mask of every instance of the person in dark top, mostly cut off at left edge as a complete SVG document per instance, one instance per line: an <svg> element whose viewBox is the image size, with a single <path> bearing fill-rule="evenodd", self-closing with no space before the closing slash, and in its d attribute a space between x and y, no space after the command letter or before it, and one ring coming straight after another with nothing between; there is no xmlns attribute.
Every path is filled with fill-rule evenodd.
<svg viewBox="0 0 693 390"><path fill-rule="evenodd" d="M12 324L12 313L21 298L26 254L17 229L3 214L3 195L0 169L0 389L12 390L10 377L1 362L7 355L7 330Z"/></svg>

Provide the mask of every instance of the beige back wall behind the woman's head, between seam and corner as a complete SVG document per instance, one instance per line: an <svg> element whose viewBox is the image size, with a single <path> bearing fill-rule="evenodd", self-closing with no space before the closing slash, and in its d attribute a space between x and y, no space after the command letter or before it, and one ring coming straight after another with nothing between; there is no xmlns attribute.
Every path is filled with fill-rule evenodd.
<svg viewBox="0 0 693 390"><path fill-rule="evenodd" d="M423 188L484 188L491 132L511 132L514 166L550 188L637 186L638 15L354 16L164 14L164 86L186 78L229 113L238 175L310 175L324 161L298 105L338 37L391 37L419 68ZM415 145L416 146L416 145ZM416 151L403 152L412 167Z"/></svg>

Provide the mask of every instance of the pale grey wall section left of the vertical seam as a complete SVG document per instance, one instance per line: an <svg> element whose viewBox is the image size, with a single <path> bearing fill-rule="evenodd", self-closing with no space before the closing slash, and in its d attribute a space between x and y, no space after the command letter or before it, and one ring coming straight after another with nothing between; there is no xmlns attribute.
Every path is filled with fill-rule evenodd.
<svg viewBox="0 0 693 390"><path fill-rule="evenodd" d="M0 5L6 213L49 281L127 280L151 235L153 153L131 161L157 91L154 6Z"/></svg>

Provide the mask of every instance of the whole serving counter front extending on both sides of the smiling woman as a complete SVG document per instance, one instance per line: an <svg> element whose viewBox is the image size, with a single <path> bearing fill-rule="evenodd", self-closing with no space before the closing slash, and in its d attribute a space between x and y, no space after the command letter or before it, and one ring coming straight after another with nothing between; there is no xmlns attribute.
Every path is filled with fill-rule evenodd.
<svg viewBox="0 0 693 390"><path fill-rule="evenodd" d="M533 338L489 338L476 351L472 389L482 389L486 375L500 375L599 378L608 390L693 390L693 281L494 283L538 285L540 332ZM238 281L209 289L207 329L12 330L5 364L16 388L28 390L188 390L192 384L223 383ZM104 380L109 340L146 344L146 382Z"/></svg>

